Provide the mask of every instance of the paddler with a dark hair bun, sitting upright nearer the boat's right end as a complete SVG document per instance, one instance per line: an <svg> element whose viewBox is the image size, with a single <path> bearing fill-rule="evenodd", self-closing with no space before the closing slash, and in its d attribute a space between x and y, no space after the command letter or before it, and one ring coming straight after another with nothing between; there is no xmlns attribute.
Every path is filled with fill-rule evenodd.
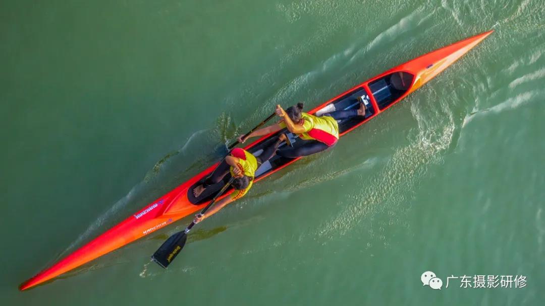
<svg viewBox="0 0 545 306"><path fill-rule="evenodd" d="M308 156L336 145L339 138L337 120L353 116L364 116L366 111L364 103L360 104L359 109L334 111L320 117L304 113L302 109L302 103L297 103L297 105L289 107L286 111L280 105L276 105L275 113L282 118L280 122L266 128L258 129L245 139L243 139L243 136L240 136L239 141L244 142L251 137L268 135L287 128L289 132L297 134L301 139L305 140L305 143L294 148L285 147L276 149L286 139L286 136L281 134L275 143L275 149L272 151L265 149L259 157L265 161L274 154L287 158Z"/></svg>

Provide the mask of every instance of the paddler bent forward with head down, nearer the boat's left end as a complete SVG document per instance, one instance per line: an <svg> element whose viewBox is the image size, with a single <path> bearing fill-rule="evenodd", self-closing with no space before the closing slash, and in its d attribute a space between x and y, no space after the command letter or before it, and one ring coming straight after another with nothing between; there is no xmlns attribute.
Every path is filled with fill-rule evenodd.
<svg viewBox="0 0 545 306"><path fill-rule="evenodd" d="M233 149L201 185L195 186L193 195L199 197L207 187L219 183L228 173L231 173L231 175L235 177L231 184L235 191L231 193L231 196L227 196L220 201L217 201L214 207L210 208L204 215L197 215L193 221L198 223L205 218L214 215L217 211L225 207L225 205L246 195L248 190L252 187L253 177L258 168L258 163L262 163L261 159L256 158L252 153L241 148Z"/></svg>

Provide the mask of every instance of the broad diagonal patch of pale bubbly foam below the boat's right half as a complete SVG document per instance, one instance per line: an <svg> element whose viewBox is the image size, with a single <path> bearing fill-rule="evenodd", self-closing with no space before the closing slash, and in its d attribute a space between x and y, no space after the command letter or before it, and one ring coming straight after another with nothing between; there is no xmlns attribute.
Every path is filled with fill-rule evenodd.
<svg viewBox="0 0 545 306"><path fill-rule="evenodd" d="M344 204L338 207L342 209L332 220L325 221L316 234L322 238L345 235L361 227L361 220L366 215L387 212L390 220L380 224L379 233L367 225L369 248L376 242L387 245L387 237L383 233L385 227L396 223L408 227L403 217L410 208L408 192L416 191L429 167L442 163L444 154L453 143L457 124L452 116L445 116L445 113L448 111L442 108L421 110L413 102L411 114L416 118L418 127L409 131L409 144L396 148L391 157L379 165L379 170L358 173L352 181L359 184L356 183L358 185L352 188L354 191L341 200Z"/></svg>

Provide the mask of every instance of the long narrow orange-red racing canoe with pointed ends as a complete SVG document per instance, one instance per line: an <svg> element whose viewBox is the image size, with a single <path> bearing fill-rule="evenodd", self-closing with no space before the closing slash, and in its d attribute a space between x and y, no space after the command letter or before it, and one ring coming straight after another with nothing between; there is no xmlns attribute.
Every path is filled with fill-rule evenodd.
<svg viewBox="0 0 545 306"><path fill-rule="evenodd" d="M338 122L340 136L343 136L390 108L393 104L401 101L409 93L420 88L420 86L437 76L446 67L450 66L471 48L479 44L490 33L492 31L453 43L450 46L437 49L419 58L410 60L405 64L391 68L341 93L341 95L330 99L308 113L319 116L334 110L355 109L359 107L359 101L363 101L367 104L367 113L365 116L356 116ZM285 131L282 130L278 133L281 132ZM278 133L263 136L246 146L245 149L252 154L258 155L261 153L260 150L263 147L268 146L271 141L275 141L275 136ZM301 142L296 140L293 146L298 146ZM273 157L259 167L256 172L255 182L294 163L298 159ZM21 284L19 289L26 290L32 286L46 282L201 210L210 202L215 192L222 188L224 183L220 182L207 188L199 198L193 197L192 188L199 180L213 171L216 166L217 164L210 166L171 192L156 199L123 222L107 230L104 234L27 280ZM228 189L223 196L227 196L231 192L233 190Z"/></svg>

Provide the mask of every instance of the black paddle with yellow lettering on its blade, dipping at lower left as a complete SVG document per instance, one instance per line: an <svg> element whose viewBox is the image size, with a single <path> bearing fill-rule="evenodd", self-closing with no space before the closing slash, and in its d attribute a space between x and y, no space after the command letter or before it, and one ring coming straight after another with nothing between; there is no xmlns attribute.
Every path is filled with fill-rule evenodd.
<svg viewBox="0 0 545 306"><path fill-rule="evenodd" d="M201 210L200 215L204 215L206 211L214 205L216 202L216 199L219 198L223 192L227 190L229 186L231 186L231 183L233 183L233 180L235 178L232 177L229 179L229 182L223 186L223 188L217 192L216 196L210 201L208 205L206 205L203 210ZM152 255L152 260L158 263L161 267L167 268L168 265L176 258L176 256L180 253L181 249L185 245L185 241L187 240L187 233L195 226L195 221L193 220L189 226L185 228L183 232L175 233L174 235L170 236L167 241L165 241L161 247L155 253Z"/></svg>

